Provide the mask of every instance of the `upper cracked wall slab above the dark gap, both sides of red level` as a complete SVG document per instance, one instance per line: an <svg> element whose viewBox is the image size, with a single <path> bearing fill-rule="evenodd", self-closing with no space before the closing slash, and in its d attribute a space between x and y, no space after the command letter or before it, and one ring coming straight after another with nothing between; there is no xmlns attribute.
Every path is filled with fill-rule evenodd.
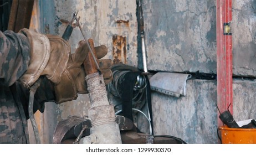
<svg viewBox="0 0 256 155"><path fill-rule="evenodd" d="M255 77L256 1L232 3L233 74ZM217 73L216 1L145 1L144 20L149 70Z"/></svg>

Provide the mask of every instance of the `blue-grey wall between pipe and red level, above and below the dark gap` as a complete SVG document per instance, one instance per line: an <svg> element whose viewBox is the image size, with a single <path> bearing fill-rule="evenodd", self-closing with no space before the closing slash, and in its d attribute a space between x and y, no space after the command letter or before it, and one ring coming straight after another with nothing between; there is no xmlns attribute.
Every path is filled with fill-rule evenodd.
<svg viewBox="0 0 256 155"><path fill-rule="evenodd" d="M149 70L217 73L216 1L144 1ZM173 84L175 85L175 84ZM216 80L187 81L186 96L152 92L155 135L218 143Z"/></svg>

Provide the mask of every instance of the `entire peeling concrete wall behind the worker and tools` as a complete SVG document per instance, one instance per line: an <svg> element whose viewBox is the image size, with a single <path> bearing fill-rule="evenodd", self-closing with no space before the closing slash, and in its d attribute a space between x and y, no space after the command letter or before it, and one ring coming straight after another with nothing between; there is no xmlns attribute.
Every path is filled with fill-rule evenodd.
<svg viewBox="0 0 256 155"><path fill-rule="evenodd" d="M65 24L60 19L70 20L72 13L79 11L86 37L93 38L95 45L108 47L109 53L105 58L119 58L122 63L141 66L141 57L137 55L136 0L50 2L54 5L40 7L42 32L48 30L62 35ZM149 70L217 73L216 1L144 0L142 5ZM255 0L233 1L234 75L255 76L255 8ZM54 15L47 9L54 9ZM122 48L116 46L116 38L121 38ZM69 41L73 51L81 39L77 28ZM116 53L116 48L121 52ZM218 143L216 85L214 79L188 80L187 95L179 98L152 91L155 135L172 135L187 143ZM255 85L254 80L234 79L235 120L255 118ZM86 115L89 105L87 95L79 95L78 100L57 105L58 121L68 115Z"/></svg>

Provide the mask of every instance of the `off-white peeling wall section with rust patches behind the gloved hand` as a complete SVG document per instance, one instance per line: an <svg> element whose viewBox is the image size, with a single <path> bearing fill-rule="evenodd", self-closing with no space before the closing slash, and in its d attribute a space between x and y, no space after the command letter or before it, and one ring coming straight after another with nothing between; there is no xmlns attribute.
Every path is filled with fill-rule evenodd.
<svg viewBox="0 0 256 155"><path fill-rule="evenodd" d="M106 45L108 54L105 58L136 66L137 23L136 1L54 1L57 19L71 20L73 12L78 12L80 24L87 39L94 39L94 45ZM62 35L66 25L57 25L58 35ZM113 38L121 38L113 39ZM83 40L80 29L75 28L70 37L71 52ZM119 41L118 41L119 40ZM116 42L117 41L117 42ZM118 57L118 56L117 56ZM59 106L59 120L68 115L86 115L90 107L88 95L80 95L75 101Z"/></svg>

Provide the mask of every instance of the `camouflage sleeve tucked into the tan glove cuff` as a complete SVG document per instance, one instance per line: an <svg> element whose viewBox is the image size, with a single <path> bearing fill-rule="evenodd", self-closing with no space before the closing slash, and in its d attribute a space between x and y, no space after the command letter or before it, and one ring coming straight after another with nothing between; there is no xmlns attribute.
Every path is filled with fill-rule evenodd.
<svg viewBox="0 0 256 155"><path fill-rule="evenodd" d="M11 86L27 70L30 44L24 34L0 31L0 84Z"/></svg>

